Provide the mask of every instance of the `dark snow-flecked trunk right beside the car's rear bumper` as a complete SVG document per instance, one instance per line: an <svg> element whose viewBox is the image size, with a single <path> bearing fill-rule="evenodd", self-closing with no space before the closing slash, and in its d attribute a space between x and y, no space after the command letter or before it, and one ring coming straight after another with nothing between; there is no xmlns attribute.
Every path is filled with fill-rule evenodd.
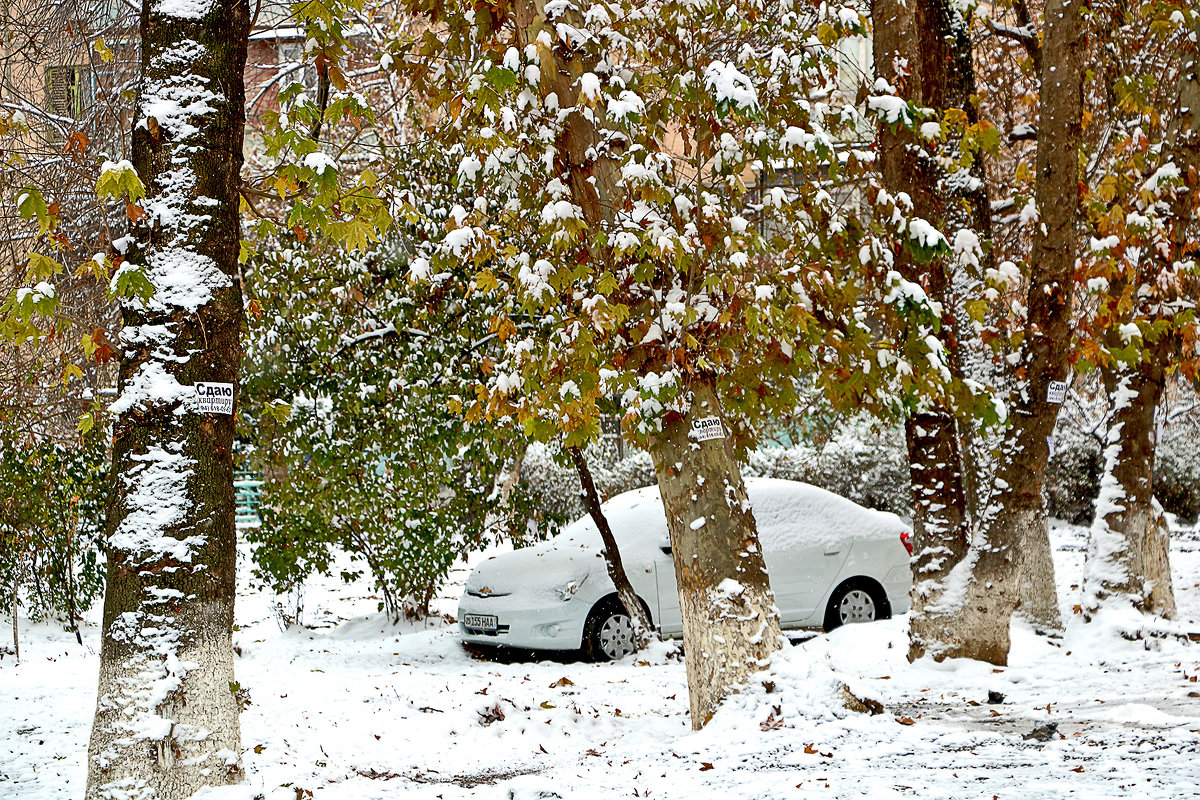
<svg viewBox="0 0 1200 800"><path fill-rule="evenodd" d="M970 102L974 94L971 42L965 22L950 4L874 0L871 18L877 77L919 107L938 112L960 108L974 114ZM984 234L989 215L983 181L974 191L954 191L946 170L912 131L881 125L878 143L883 185L893 194L907 193L914 216L950 236L964 227ZM929 297L942 305L942 327L936 336L950 354L952 374L961 379L959 347L964 338L955 314L954 265L947 258L918 264L902 247L894 257L901 276L919 283ZM913 509L910 660L926 654L942 657L946 631L958 612L953 602L947 602L947 582L966 555L971 537L965 449L959 431L947 397L929 398L925 408L905 423Z"/></svg>

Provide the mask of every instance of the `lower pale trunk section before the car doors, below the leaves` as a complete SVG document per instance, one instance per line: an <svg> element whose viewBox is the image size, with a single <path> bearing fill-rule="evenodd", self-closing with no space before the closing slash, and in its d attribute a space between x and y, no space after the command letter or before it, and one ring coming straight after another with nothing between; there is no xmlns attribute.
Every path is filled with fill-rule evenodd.
<svg viewBox="0 0 1200 800"><path fill-rule="evenodd" d="M694 423L714 417L718 425L709 426L722 435L698 440ZM695 380L688 413L668 416L650 441L679 584L696 730L782 644L754 512L726 431L713 385Z"/></svg>

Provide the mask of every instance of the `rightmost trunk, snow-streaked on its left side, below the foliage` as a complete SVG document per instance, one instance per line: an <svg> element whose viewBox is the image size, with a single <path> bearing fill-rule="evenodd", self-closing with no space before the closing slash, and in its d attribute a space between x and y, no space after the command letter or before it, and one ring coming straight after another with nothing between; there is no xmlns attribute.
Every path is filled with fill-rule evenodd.
<svg viewBox="0 0 1200 800"><path fill-rule="evenodd" d="M1135 367L1115 371L1116 407L1084 569L1086 620L1112 600L1144 614L1175 615L1166 517L1154 500L1154 411L1165 360L1165 353L1146 353Z"/></svg>

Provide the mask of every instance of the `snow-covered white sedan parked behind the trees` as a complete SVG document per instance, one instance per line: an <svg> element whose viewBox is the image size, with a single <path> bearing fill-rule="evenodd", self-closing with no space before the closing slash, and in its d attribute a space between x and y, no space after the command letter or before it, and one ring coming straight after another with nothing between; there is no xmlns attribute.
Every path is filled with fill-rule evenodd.
<svg viewBox="0 0 1200 800"><path fill-rule="evenodd" d="M748 479L775 604L785 628L887 619L908 610L908 525L808 483ZM664 636L683 632L674 564L658 487L604 504L634 590ZM598 660L630 648L590 517L553 539L475 567L458 603L468 644L577 650Z"/></svg>

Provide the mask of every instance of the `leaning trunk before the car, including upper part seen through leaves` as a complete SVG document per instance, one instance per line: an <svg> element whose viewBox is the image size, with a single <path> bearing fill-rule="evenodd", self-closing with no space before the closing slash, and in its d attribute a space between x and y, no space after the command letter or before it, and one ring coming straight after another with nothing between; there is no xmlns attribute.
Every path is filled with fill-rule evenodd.
<svg viewBox="0 0 1200 800"><path fill-rule="evenodd" d="M618 194L619 174L612 154L624 145L620 138L602 140L598 112L581 102L582 77L596 65L581 58L558 32L558 25L570 25L581 12L562 6L556 13L550 22L545 5L533 0L517 4L516 40L524 47L540 42L539 34L556 31L551 46L539 44L545 48L540 96L553 94L558 107L569 109L554 143L553 172L565 178L587 228L602 231L612 221L612 198ZM607 246L596 239L589 241L593 263L608 265L611 255ZM679 582L691 723L700 729L751 672L767 666L782 637L733 450L727 439L697 443L688 438L692 420L721 416L712 385L697 381L692 390L686 416L666 421L649 449ZM692 530L689 525L701 517L703 527Z"/></svg>

